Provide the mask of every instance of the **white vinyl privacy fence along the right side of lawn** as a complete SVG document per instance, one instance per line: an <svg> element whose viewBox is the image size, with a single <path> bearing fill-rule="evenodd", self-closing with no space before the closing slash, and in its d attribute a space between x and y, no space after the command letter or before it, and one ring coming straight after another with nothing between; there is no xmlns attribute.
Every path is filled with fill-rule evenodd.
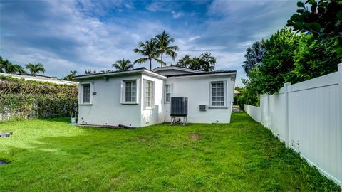
<svg viewBox="0 0 342 192"><path fill-rule="evenodd" d="M278 93L261 95L260 107L244 110L342 186L342 64L338 72L285 83Z"/></svg>

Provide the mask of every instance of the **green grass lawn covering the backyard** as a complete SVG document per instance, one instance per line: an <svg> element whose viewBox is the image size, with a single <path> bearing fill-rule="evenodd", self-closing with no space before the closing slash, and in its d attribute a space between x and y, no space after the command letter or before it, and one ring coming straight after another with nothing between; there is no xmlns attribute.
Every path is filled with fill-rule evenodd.
<svg viewBox="0 0 342 192"><path fill-rule="evenodd" d="M231 124L0 124L0 191L341 191L245 113Z"/></svg>

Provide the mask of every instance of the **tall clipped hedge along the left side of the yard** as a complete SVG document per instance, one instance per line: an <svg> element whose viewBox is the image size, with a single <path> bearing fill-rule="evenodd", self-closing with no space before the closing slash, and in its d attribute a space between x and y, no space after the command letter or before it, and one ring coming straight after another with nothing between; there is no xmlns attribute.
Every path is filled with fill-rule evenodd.
<svg viewBox="0 0 342 192"><path fill-rule="evenodd" d="M77 110L77 98L77 85L0 75L0 122L70 116Z"/></svg>

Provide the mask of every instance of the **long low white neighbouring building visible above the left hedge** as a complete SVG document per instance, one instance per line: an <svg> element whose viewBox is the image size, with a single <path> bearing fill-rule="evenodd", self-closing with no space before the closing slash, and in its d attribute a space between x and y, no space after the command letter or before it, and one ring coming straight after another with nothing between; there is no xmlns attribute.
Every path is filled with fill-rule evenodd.
<svg viewBox="0 0 342 192"><path fill-rule="evenodd" d="M0 73L0 75L9 76L12 78L23 78L24 80L38 80L43 82L53 82L56 84L66 84L66 85L78 85L78 82L68 81L68 80L58 80L57 78L48 77L45 75L33 75L33 74L9 74L9 73Z"/></svg>

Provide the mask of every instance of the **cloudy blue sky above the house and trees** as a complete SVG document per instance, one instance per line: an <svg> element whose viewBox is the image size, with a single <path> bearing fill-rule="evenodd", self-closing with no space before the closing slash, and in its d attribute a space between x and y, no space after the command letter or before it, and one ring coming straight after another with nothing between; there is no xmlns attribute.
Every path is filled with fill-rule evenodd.
<svg viewBox="0 0 342 192"><path fill-rule="evenodd" d="M237 70L241 85L246 48L295 11L296 1L0 1L0 55L19 65L43 63L46 75L62 78L134 61L139 41L166 30L180 47L176 62L209 51L217 69Z"/></svg>

